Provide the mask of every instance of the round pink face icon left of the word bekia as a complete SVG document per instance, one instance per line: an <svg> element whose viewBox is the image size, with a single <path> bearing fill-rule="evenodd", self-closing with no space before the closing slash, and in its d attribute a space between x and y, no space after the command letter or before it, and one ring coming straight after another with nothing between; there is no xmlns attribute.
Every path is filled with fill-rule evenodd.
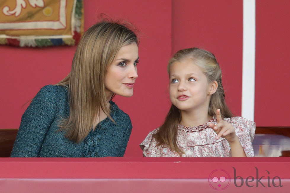
<svg viewBox="0 0 290 193"><path fill-rule="evenodd" d="M209 175L209 185L215 190L224 190L230 185L230 175L223 169L216 169Z"/></svg>

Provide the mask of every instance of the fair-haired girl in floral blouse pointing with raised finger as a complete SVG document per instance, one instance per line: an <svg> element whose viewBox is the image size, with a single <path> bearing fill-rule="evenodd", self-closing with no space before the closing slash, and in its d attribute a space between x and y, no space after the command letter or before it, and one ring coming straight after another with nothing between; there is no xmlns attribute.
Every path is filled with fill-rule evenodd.
<svg viewBox="0 0 290 193"><path fill-rule="evenodd" d="M254 156L255 123L234 117L225 103L215 56L182 49L169 61L172 106L161 127L140 144L147 157Z"/></svg>

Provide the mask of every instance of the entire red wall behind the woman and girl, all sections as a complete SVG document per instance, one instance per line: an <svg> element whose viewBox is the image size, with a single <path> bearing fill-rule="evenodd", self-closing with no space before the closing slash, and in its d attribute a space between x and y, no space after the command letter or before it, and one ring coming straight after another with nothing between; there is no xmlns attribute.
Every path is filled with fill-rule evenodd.
<svg viewBox="0 0 290 193"><path fill-rule="evenodd" d="M290 45L289 5L289 1L257 0L255 121L258 126L290 126L286 121L290 107L286 74L289 72L286 58ZM114 98L133 124L125 156L142 156L140 142L164 120L170 106L167 61L179 49L201 47L217 56L227 103L236 115L241 115L242 0L96 0L84 1L84 12L85 30L97 22L98 14L105 13L132 22L141 32L139 77L134 95ZM27 107L23 104L41 87L55 84L68 74L75 49L75 46L0 46L0 128L19 127Z"/></svg>

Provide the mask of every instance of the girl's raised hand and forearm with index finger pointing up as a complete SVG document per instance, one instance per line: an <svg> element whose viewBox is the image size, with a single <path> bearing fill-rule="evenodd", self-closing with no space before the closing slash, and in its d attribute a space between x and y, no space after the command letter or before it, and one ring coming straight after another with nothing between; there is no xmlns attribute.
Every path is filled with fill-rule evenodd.
<svg viewBox="0 0 290 193"><path fill-rule="evenodd" d="M246 157L241 142L235 134L235 128L232 124L224 121L220 115L220 109L217 109L217 125L210 123L209 126L216 132L218 140L220 137L225 138L229 144L233 157Z"/></svg>

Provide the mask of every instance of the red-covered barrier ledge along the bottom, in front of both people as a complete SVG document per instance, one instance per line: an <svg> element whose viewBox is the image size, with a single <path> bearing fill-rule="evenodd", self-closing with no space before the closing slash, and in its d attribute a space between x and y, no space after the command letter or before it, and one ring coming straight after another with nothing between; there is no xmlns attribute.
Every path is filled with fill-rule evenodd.
<svg viewBox="0 0 290 193"><path fill-rule="evenodd" d="M289 192L289 163L288 157L0 158L0 189L4 192Z"/></svg>

